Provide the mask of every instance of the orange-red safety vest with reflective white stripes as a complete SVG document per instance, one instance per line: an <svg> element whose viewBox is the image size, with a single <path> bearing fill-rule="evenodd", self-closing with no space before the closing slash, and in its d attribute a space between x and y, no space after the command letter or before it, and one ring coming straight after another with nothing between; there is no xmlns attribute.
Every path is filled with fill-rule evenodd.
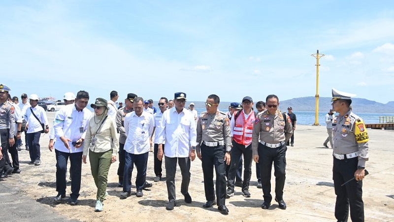
<svg viewBox="0 0 394 222"><path fill-rule="evenodd" d="M243 112L243 111L239 111ZM236 113L234 113L235 116ZM232 138L237 144L249 146L252 143L252 131L253 125L255 123L255 112L251 111L249 117L245 120L245 114L242 114L242 118L235 119L234 131L232 133Z"/></svg>

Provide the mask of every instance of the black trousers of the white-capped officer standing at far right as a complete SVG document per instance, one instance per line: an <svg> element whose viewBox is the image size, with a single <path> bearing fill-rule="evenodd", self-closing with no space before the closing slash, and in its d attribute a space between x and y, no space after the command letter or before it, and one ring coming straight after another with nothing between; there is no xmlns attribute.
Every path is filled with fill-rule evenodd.
<svg viewBox="0 0 394 222"><path fill-rule="evenodd" d="M363 222L364 202L362 201L362 181L357 182L356 180L352 180L342 186L342 184L354 177L359 159L357 157L342 160L333 158L332 179L334 180L336 194L335 218L338 222L348 221L350 205L350 218L352 222Z"/></svg>

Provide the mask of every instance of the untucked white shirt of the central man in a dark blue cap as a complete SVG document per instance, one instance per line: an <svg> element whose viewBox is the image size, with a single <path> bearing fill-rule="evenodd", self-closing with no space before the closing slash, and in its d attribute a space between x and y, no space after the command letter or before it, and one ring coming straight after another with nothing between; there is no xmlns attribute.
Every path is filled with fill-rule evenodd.
<svg viewBox="0 0 394 222"><path fill-rule="evenodd" d="M191 146L197 145L196 121L192 112L178 113L174 108L164 111L158 144L165 141L164 155L167 157L188 157Z"/></svg>

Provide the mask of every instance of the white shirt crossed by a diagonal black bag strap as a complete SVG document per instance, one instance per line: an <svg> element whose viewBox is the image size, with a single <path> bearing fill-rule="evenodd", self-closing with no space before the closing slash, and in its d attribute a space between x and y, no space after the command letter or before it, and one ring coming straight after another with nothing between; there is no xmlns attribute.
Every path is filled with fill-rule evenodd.
<svg viewBox="0 0 394 222"><path fill-rule="evenodd" d="M41 121L41 123L44 123L44 126L48 125L48 118L46 117L46 113L44 111L44 108L40 106L35 106L34 108L30 109L32 107L29 107L26 109L24 118L28 124L28 131L27 133L35 133L39 132L42 130L41 124L38 122L38 120L34 117L32 110L34 114L37 116L37 118Z"/></svg>

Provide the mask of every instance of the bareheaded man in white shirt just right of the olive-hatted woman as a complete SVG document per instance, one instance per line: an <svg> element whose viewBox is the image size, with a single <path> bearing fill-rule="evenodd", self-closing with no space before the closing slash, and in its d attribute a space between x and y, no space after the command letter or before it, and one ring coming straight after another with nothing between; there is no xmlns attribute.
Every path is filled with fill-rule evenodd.
<svg viewBox="0 0 394 222"><path fill-rule="evenodd" d="M133 102L134 111L127 113L125 117L125 132L127 135L125 144L125 172L123 174L123 192L121 197L127 198L131 194L131 174L133 165L137 168L135 186L136 196L142 197L143 188L151 187L146 182L146 168L148 164L150 139L153 133L155 120L153 115L143 111L143 99L135 97Z"/></svg>

